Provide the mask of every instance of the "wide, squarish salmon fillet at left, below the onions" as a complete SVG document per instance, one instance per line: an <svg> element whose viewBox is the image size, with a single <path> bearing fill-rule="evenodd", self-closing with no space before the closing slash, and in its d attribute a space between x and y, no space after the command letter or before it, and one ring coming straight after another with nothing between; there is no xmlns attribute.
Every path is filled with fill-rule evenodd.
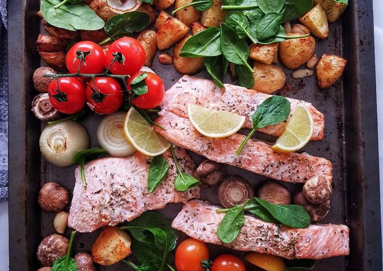
<svg viewBox="0 0 383 271"><path fill-rule="evenodd" d="M184 149L175 149L183 171L192 174L195 164ZM176 169L169 151L163 154L170 168L167 178L153 193L147 192L150 163L140 153L126 158L105 157L85 166L87 186L81 183L80 167L70 207L68 226L92 232L101 226L131 221L147 210L162 209L167 203L187 202L199 197L199 187L178 192L173 185Z"/></svg>

